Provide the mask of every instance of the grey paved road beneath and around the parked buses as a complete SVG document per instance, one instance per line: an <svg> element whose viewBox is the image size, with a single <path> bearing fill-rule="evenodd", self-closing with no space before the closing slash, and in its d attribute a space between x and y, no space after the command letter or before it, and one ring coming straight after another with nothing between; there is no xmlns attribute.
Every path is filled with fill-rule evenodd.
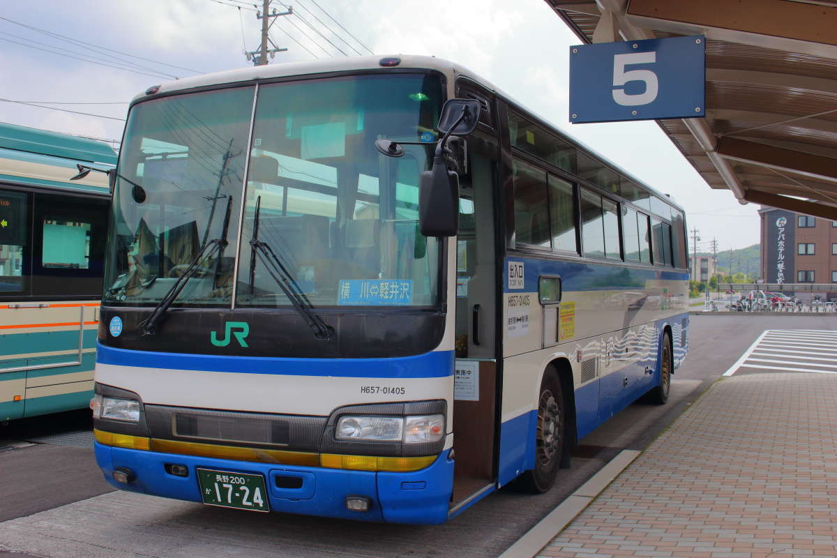
<svg viewBox="0 0 837 558"><path fill-rule="evenodd" d="M622 449L643 449L768 329L829 330L825 317L693 316L691 352L667 405L636 403L587 438L548 494L501 489L446 525L363 524L231 509L110 491L87 449L57 446L49 422L0 430L0 556L496 556ZM56 419L64 422L64 417ZM76 420L79 420L76 417ZM83 420L83 419L82 419ZM78 429L78 425L75 425ZM25 431L22 433L22 430ZM45 466L46 465L46 466ZM98 494L98 495L97 495ZM8 502L8 504L7 504ZM40 513L36 513L40 512ZM17 517L18 519L13 519ZM22 558L23 558L22 556Z"/></svg>

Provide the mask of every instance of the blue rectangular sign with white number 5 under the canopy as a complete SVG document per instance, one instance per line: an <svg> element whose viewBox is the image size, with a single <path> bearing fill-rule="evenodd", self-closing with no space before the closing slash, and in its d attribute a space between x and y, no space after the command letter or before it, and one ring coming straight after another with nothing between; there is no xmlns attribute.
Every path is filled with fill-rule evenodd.
<svg viewBox="0 0 837 558"><path fill-rule="evenodd" d="M570 122L704 116L706 38L570 47Z"/></svg>

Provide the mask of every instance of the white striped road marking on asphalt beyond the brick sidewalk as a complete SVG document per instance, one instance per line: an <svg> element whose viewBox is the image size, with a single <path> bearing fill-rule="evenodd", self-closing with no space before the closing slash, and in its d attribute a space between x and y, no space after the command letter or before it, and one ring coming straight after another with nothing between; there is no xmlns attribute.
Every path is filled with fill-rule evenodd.
<svg viewBox="0 0 837 558"><path fill-rule="evenodd" d="M741 368L837 374L837 361L829 356L837 356L837 331L764 330L723 375Z"/></svg>

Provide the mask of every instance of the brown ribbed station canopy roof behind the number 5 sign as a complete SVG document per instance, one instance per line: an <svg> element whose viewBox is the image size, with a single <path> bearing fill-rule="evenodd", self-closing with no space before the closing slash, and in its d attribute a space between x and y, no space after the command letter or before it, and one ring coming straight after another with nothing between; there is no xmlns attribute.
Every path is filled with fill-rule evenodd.
<svg viewBox="0 0 837 558"><path fill-rule="evenodd" d="M658 120L706 183L837 220L837 0L545 0L584 43L706 35L706 118Z"/></svg>

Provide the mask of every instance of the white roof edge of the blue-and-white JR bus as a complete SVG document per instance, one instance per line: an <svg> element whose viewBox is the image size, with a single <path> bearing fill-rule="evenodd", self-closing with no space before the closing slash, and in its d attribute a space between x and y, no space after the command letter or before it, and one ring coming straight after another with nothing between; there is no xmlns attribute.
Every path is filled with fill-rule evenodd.
<svg viewBox="0 0 837 558"><path fill-rule="evenodd" d="M386 58L398 58L401 59L401 62L397 66L382 67L380 61ZM301 76L329 74L334 72L352 72L357 70L369 69L389 69L393 71L398 71L398 69L405 68L435 69L445 75L463 76L468 79L472 79L476 83L480 84L488 90L493 91L494 93L496 93L496 95L501 96L503 99L511 101L511 103L514 103L517 106L526 106L516 101L513 97L511 97L511 95L506 95L504 91L499 90L498 88L496 88L496 86L490 84L490 82L481 78L479 75L475 74L474 72L470 71L470 69L467 69L460 64L454 64L449 60L439 59L435 56L422 56L415 54L350 56L340 59L318 59L306 60L303 62L287 62L284 64L266 64L264 66L249 66L247 68L231 69L223 72L214 72L212 74L203 74L193 76L190 78L168 81L159 85L159 90L157 90L156 95L172 93L182 90L190 90L195 88L210 87L219 84L244 83L249 81L257 81L259 79L290 77L294 75ZM136 95L136 97L134 97L134 99L131 100L131 105L147 97L148 95L144 93ZM675 207L680 211L683 211L683 207L680 207L680 205L676 203L674 200L672 200L669 196L656 191L655 188L648 186L648 184L646 184L645 182L637 179L629 172L624 171L619 165L616 165L613 161L610 161L607 157L602 156L600 153L598 153L598 151L595 151L591 147L585 145L582 141L578 141L575 138L567 136L565 132L558 129L557 126L550 123L549 120L543 118L540 115L537 115L536 113L533 113L531 110L526 109L526 111L529 114L535 116L537 120L540 120L542 124L548 125L552 129L552 131L557 132L557 134L562 136L562 138L571 141L578 147L582 148L583 151L587 151L590 155L594 156L599 161L602 161L604 164L612 167L615 171L619 171L619 173L624 175L624 177L627 177L631 181L636 182L639 186L644 187L646 190L648 190L648 192L655 195L656 197L659 197L666 204Z"/></svg>

